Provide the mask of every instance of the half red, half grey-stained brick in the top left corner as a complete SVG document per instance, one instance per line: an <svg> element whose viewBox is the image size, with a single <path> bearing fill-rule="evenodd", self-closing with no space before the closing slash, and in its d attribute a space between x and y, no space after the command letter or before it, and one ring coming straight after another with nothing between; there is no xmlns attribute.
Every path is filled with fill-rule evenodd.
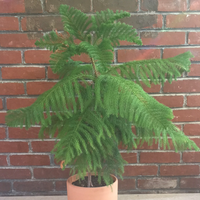
<svg viewBox="0 0 200 200"><path fill-rule="evenodd" d="M1 0L0 13L42 13L40 0Z"/></svg>

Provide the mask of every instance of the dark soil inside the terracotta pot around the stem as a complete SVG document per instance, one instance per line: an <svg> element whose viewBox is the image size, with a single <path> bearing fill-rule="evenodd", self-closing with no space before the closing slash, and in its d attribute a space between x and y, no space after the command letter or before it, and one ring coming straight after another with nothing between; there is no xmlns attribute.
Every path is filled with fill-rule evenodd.
<svg viewBox="0 0 200 200"><path fill-rule="evenodd" d="M101 183L98 182L98 176L92 176L92 185L93 187L104 187L106 186L103 179L101 179ZM74 181L72 185L79 186L79 187L88 187L88 177L85 176L83 180L79 179L77 181Z"/></svg>

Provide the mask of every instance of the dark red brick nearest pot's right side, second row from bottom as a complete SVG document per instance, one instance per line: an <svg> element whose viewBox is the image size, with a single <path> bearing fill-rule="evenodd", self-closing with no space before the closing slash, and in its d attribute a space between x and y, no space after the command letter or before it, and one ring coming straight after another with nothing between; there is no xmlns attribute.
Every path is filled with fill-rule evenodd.
<svg viewBox="0 0 200 200"><path fill-rule="evenodd" d="M151 176L157 175L158 167L156 165L140 165L140 166L125 166L123 176Z"/></svg>

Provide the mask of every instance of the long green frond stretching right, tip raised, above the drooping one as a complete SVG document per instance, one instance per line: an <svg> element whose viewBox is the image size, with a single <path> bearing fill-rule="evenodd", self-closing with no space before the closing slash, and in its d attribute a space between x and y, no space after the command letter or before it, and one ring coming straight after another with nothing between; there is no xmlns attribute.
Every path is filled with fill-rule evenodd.
<svg viewBox="0 0 200 200"><path fill-rule="evenodd" d="M148 87L151 83L164 84L166 80L172 83L172 80L176 80L183 72L189 72L192 57L188 51L173 58L132 61L115 66L107 73L132 79L138 84L142 81Z"/></svg>

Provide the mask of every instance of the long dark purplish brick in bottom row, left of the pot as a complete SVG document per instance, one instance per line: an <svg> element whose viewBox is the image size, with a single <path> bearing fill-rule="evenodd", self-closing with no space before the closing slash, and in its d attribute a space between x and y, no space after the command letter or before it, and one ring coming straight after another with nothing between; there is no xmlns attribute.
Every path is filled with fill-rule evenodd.
<svg viewBox="0 0 200 200"><path fill-rule="evenodd" d="M13 189L16 192L50 192L54 186L51 181L25 181L14 182Z"/></svg>

